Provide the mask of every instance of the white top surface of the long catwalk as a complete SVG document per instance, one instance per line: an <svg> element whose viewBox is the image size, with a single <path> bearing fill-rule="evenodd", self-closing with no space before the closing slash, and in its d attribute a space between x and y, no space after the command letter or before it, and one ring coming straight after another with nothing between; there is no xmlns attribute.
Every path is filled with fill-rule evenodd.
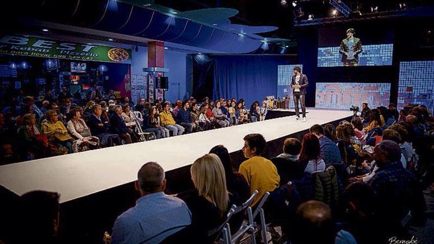
<svg viewBox="0 0 434 244"><path fill-rule="evenodd" d="M190 165L218 144L229 152L240 150L243 138L260 133L266 140L285 137L352 115L351 111L310 110L307 122L293 116L221 128L189 135L139 142L0 167L0 185L22 195L32 190L58 192L67 202L136 180L146 162L158 162L165 171Z"/></svg>

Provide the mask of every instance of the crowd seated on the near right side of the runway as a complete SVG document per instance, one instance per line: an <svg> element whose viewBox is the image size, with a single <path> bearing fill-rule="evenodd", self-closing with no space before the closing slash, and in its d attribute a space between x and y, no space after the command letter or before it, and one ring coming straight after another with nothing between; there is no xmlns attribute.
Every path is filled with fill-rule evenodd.
<svg viewBox="0 0 434 244"><path fill-rule="evenodd" d="M178 114L181 109L188 109L187 103L180 103ZM221 110L221 106L214 109ZM301 141L285 139L282 153L271 159L261 156L266 149L264 137L249 134L242 148L246 160L235 172L228 150L217 145L193 162L194 189L175 196L164 193L161 166L146 163L136 181L142 197L117 217L106 241L213 243L218 236L209 231L225 220L228 209L258 191L253 209L269 192L264 205L266 221L272 223L270 231L272 226L282 227L273 236L275 243L408 243L414 240L408 236L409 227L426 222L424 194L434 193L434 118L424 106L414 107L405 117L395 116L393 109L394 105L383 112L377 109L379 116L372 109L366 126L363 117L341 121L336 128L313 125ZM390 118L393 122L386 125ZM22 197L26 204L47 199L52 207L42 218L50 224L40 226L47 228L39 230L45 235L40 240L55 236L59 223L56 198L44 192ZM231 219L231 229L240 228L247 218L244 214ZM35 221L30 220L25 222Z"/></svg>

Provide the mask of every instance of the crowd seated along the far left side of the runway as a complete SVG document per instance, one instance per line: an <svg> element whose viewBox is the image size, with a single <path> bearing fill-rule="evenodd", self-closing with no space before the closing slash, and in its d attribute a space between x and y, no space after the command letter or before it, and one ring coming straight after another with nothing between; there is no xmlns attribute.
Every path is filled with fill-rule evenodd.
<svg viewBox="0 0 434 244"><path fill-rule="evenodd" d="M190 97L175 104L141 99L134 105L129 97L105 100L98 87L87 101L66 87L40 101L19 93L0 103L0 164L255 122L266 113L257 101L248 110L235 98L198 103Z"/></svg>

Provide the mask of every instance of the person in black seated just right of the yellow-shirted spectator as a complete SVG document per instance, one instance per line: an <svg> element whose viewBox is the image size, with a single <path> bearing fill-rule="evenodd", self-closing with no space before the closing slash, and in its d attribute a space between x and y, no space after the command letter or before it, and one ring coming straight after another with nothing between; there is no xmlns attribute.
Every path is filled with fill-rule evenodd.
<svg viewBox="0 0 434 244"><path fill-rule="evenodd" d="M301 142L296 138L287 138L283 144L283 153L272 158L271 162L276 166L280 176L280 185L301 177L304 165L298 163L298 154L301 151Z"/></svg>

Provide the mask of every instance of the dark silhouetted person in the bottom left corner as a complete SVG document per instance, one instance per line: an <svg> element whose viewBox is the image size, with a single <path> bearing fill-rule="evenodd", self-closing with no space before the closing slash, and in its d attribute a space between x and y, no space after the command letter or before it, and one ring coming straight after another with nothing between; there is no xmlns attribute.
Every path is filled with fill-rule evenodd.
<svg viewBox="0 0 434 244"><path fill-rule="evenodd" d="M17 243L65 243L57 236L60 223L59 194L31 191L19 199Z"/></svg>

